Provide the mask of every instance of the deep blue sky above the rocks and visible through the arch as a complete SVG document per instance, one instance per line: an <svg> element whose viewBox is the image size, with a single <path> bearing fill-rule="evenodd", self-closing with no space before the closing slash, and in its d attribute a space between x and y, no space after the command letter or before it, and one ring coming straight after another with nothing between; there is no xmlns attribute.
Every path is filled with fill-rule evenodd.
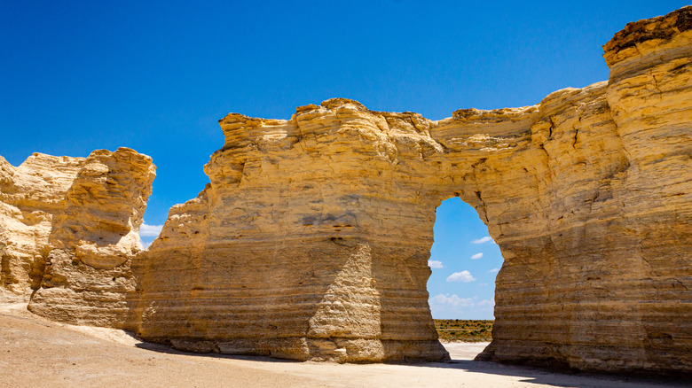
<svg viewBox="0 0 692 388"><path fill-rule="evenodd" d="M0 0L0 155L16 166L35 151L148 154L158 176L145 222L159 225L208 182L202 165L224 143L226 113L287 119L329 97L432 120L533 105L606 80L602 44L629 21L684 5ZM491 318L480 301L492 299L487 271L501 256L469 243L487 229L453 202L437 212L432 252L444 268L429 282L433 314ZM471 260L476 252L484 257ZM463 271L476 280L446 281Z"/></svg>

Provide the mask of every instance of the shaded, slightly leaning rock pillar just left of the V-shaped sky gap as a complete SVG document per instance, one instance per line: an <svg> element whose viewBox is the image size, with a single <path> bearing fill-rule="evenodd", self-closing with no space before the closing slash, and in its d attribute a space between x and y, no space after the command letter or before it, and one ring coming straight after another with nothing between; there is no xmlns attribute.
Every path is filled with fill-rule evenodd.
<svg viewBox="0 0 692 388"><path fill-rule="evenodd" d="M28 308L56 321L128 327L131 258L152 191L152 159L129 148L91 152L54 217L41 288Z"/></svg>

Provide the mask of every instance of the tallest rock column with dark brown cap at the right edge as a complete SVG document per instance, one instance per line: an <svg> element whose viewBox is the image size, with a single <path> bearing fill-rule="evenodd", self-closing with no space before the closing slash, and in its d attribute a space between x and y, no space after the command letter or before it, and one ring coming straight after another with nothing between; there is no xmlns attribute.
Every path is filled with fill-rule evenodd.
<svg viewBox="0 0 692 388"><path fill-rule="evenodd" d="M692 369L692 6L629 23L603 46L630 163L618 200L642 368Z"/></svg>

